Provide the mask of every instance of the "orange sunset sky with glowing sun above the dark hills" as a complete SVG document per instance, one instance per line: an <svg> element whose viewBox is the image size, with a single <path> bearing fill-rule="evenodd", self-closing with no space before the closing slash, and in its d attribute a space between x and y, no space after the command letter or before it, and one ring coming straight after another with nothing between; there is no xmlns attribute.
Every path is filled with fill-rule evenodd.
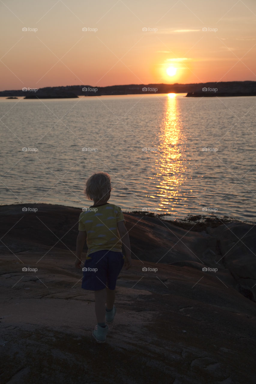
<svg viewBox="0 0 256 384"><path fill-rule="evenodd" d="M1 0L0 10L1 91L256 80L255 0Z"/></svg>

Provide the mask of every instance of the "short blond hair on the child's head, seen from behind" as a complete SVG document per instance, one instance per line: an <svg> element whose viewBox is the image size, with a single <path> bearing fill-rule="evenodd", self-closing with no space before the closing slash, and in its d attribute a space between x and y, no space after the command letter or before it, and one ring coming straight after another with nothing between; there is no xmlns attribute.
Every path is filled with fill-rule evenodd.
<svg viewBox="0 0 256 384"><path fill-rule="evenodd" d="M88 200L98 202L99 200L109 200L111 192L110 175L106 172L94 173L86 181L84 194Z"/></svg>

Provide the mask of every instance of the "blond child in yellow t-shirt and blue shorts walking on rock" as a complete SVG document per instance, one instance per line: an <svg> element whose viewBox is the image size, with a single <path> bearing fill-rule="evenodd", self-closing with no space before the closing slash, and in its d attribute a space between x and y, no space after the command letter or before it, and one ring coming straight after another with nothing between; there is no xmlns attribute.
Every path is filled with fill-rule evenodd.
<svg viewBox="0 0 256 384"><path fill-rule="evenodd" d="M85 240L88 247L82 288L95 293L98 324L93 337L98 343L106 341L108 325L105 321L111 323L115 317L116 279L124 263L126 269L131 267L130 239L123 212L117 205L107 202L111 189L110 175L105 172L95 173L87 180L84 193L94 204L81 212L76 240L76 268L82 268L80 259Z"/></svg>

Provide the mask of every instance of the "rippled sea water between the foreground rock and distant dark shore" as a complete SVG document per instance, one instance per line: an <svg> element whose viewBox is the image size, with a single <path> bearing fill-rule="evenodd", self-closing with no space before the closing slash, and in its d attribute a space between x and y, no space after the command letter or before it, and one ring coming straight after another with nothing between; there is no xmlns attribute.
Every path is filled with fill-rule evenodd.
<svg viewBox="0 0 256 384"><path fill-rule="evenodd" d="M125 211L255 222L256 97L184 96L0 98L1 204L88 207L85 179L104 171Z"/></svg>

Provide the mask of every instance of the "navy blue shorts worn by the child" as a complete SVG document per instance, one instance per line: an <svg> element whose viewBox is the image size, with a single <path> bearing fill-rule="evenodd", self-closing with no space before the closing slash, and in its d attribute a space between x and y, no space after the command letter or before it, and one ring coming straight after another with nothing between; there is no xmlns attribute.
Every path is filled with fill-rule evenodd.
<svg viewBox="0 0 256 384"><path fill-rule="evenodd" d="M82 288L99 291L107 286L114 290L124 264L123 253L101 250L90 253L88 256L90 259L86 259L83 266Z"/></svg>

